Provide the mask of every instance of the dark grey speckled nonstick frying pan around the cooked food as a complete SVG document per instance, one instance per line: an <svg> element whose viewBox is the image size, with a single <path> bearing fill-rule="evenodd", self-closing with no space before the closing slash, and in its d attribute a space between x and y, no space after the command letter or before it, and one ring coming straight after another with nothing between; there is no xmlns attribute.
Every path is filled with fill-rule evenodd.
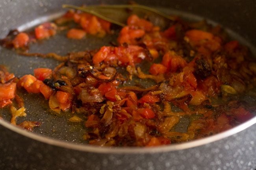
<svg viewBox="0 0 256 170"><path fill-rule="evenodd" d="M167 13L192 20L209 19L223 25L234 39L249 46L255 53L256 1L240 0L137 0L139 4L163 8ZM61 4L126 4L126 0L1 0L0 38L10 29L29 29L61 15ZM214 22L213 22L214 21ZM232 30L232 31L231 31ZM243 37L243 38L242 38ZM65 55L70 51L94 49L108 45L112 39L88 37L83 41L57 35L50 41L31 46L30 51ZM0 64L20 77L37 67L54 68L51 59L19 56L15 51L0 48ZM22 93L23 94L23 93ZM255 170L256 117L223 133L182 144L155 148L99 148L79 138L81 124L67 122L69 113L52 114L39 95L23 94L27 114L19 121L41 121L34 133L21 130L0 120L0 169L4 170ZM253 99L251 99L253 100ZM8 120L9 111L1 116ZM186 122L186 121L185 121ZM85 143L85 144L83 144Z"/></svg>

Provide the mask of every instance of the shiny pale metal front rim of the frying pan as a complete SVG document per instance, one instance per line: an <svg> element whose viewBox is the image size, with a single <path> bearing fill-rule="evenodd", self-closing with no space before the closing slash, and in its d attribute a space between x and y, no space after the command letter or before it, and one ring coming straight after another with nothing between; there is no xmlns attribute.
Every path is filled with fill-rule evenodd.
<svg viewBox="0 0 256 170"><path fill-rule="evenodd" d="M54 139L47 136L41 136L37 133L28 132L26 130L23 130L22 128L19 128L18 126L10 124L5 120L0 120L0 125L22 136L33 139L35 141L39 141L45 144L50 144L53 146L58 146L61 148L72 149L72 150L77 150L81 152L98 153L98 154L150 154L150 153L184 150L184 149L189 149L189 148L194 148L197 146L209 144L215 141L219 141L221 139L234 135L238 132L241 132L254 124L256 124L256 116L247 122L244 122L242 124L239 124L238 126L235 126L234 128L231 128L230 130L226 130L224 132L217 133L212 136L204 137L202 139L197 139L197 140L179 143L179 144L170 144L165 146L138 148L138 147L100 147L100 146L93 146L89 144L70 143L70 142L61 141L61 140Z"/></svg>

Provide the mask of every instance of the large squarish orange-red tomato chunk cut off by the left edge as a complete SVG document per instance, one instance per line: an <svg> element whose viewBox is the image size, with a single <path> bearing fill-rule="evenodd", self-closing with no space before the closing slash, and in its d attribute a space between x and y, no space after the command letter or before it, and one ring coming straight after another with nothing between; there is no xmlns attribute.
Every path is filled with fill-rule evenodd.
<svg viewBox="0 0 256 170"><path fill-rule="evenodd" d="M16 92L16 83L0 84L0 101L13 99Z"/></svg>

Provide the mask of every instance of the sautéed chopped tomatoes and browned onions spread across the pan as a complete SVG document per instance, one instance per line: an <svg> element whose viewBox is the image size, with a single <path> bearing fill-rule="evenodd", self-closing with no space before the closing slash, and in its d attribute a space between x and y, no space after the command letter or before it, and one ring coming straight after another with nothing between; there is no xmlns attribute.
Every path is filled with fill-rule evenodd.
<svg viewBox="0 0 256 170"><path fill-rule="evenodd" d="M116 42L67 56L29 53L28 47L50 41L63 29L69 29L67 38L73 39L86 34L103 37L119 29L70 10L32 32L10 32L2 46L22 55L52 57L61 64L19 78L1 66L0 108L9 107L11 123L16 124L17 117L26 116L26 104L16 92L24 88L38 93L52 111L74 113L69 121L84 122L83 138L100 146L180 143L252 118L255 103L244 96L255 96L256 60L247 47L230 41L220 26L174 18L169 27L160 28L147 16L131 15ZM187 132L175 132L182 117L189 118ZM18 126L33 130L40 122Z"/></svg>

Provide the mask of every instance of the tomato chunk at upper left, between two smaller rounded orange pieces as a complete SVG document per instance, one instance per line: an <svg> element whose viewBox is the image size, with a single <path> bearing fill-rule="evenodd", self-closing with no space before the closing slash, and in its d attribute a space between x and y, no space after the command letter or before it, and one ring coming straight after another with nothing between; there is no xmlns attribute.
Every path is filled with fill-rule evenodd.
<svg viewBox="0 0 256 170"><path fill-rule="evenodd" d="M35 28L35 38L42 40L56 34L57 26L54 23L46 22Z"/></svg>

